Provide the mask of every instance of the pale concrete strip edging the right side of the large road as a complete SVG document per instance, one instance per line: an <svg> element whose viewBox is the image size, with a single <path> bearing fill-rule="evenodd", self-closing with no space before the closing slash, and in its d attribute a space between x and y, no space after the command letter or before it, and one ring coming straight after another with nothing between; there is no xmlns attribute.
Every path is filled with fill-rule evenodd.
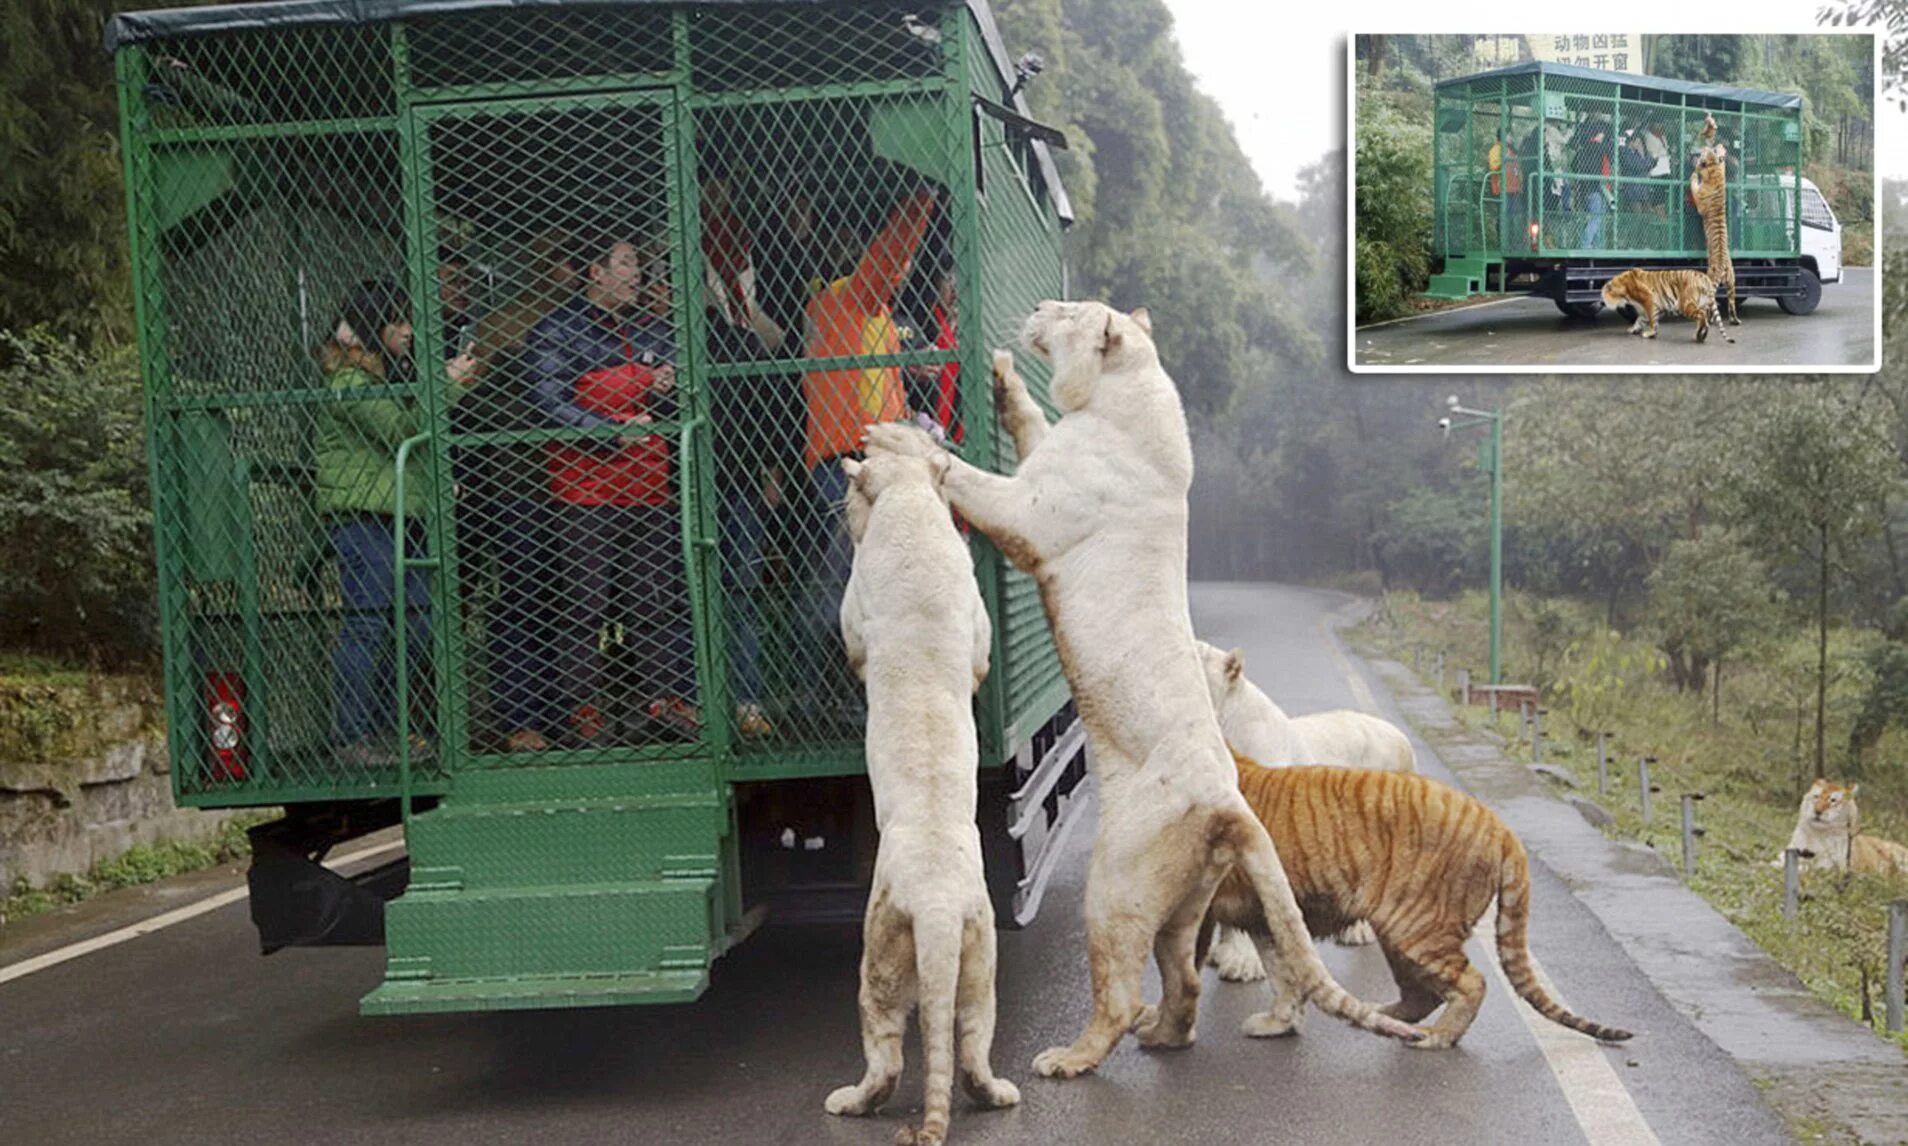
<svg viewBox="0 0 1908 1146"><path fill-rule="evenodd" d="M1690 890L1668 856L1587 824L1511 759L1500 738L1463 726L1406 665L1353 656L1463 788L1570 887L1664 999L1744 1070L1795 1133L1908 1142L1908 1056L1816 999Z"/></svg>

